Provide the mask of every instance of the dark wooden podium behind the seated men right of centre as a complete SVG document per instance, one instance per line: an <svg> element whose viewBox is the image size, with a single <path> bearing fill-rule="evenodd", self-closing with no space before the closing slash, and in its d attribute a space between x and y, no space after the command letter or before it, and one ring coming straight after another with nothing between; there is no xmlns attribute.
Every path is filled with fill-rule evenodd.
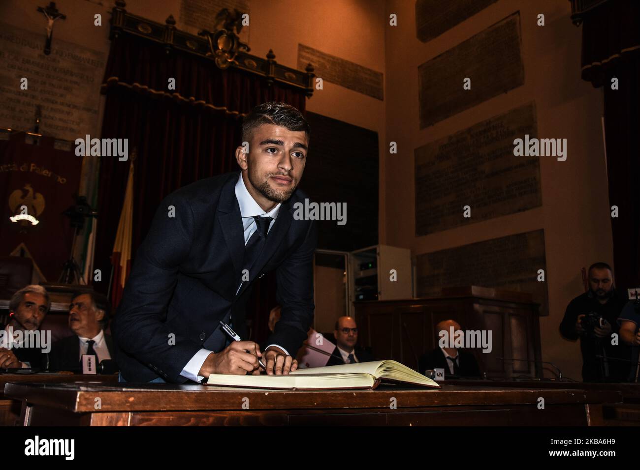
<svg viewBox="0 0 640 470"><path fill-rule="evenodd" d="M543 376L539 305L531 294L470 286L443 289L439 297L354 306L358 342L371 348L376 359L394 359L417 370L418 357L438 344L436 324L451 319L463 330L492 332L491 352L468 349L485 378Z"/></svg>

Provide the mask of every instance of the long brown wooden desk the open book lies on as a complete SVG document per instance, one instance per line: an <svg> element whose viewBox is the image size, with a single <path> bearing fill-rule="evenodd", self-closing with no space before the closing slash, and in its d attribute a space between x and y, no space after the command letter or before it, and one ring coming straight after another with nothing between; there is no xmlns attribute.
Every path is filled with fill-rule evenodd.
<svg viewBox="0 0 640 470"><path fill-rule="evenodd" d="M9 383L25 425L599 425L620 391L380 386L265 391L173 384ZM538 409L538 398L545 408ZM396 409L390 405L396 403ZM97 409L99 406L99 409Z"/></svg>

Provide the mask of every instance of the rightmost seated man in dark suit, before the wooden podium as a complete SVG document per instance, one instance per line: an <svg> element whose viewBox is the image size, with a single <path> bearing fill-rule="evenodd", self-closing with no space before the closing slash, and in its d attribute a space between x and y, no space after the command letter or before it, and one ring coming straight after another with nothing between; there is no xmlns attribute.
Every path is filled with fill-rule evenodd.
<svg viewBox="0 0 640 470"><path fill-rule="evenodd" d="M441 336L440 332L444 331L449 334L450 327L453 327L454 331L460 330L460 325L454 322L454 320L445 320L436 325L436 331L438 332L436 342ZM451 341L453 341L453 339L451 339ZM420 356L418 364L419 372L423 374L426 370L436 368L444 369L445 379L450 375L457 377L474 377L478 379L481 377L476 357L462 349L441 348L438 346L433 351Z"/></svg>

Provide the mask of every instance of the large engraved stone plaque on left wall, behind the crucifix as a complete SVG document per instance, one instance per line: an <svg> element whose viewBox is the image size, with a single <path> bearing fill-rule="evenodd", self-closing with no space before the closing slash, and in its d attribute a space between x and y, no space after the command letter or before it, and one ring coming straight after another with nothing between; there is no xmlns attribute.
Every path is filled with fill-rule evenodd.
<svg viewBox="0 0 640 470"><path fill-rule="evenodd" d="M0 23L0 127L32 130L42 107L40 133L75 140L97 136L105 54L54 40L44 55L45 35ZM20 88L22 78L28 88Z"/></svg>

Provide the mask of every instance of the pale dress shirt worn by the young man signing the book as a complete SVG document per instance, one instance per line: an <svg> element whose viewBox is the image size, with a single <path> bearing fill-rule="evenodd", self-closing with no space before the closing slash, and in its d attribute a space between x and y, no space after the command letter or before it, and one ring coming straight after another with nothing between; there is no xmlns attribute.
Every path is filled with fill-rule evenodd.
<svg viewBox="0 0 640 470"><path fill-rule="evenodd" d="M238 205L240 206L240 215L242 217L244 228L244 244L246 245L253 235L253 232L258 228L255 220L253 220L253 217L255 217L256 215L259 215L260 217L271 217L273 219L269 224L269 230L271 230L271 227L273 227L273 224L278 217L278 212L280 212L280 206L282 205L282 203L276 204L276 206L269 212L264 212L264 210L262 210L262 207L258 205L258 203L253 199L252 195L249 194L249 191L247 191L246 186L244 185L244 180L242 179L242 173L240 173L240 176L236 183L236 198L238 201ZM267 231L267 233L269 233L269 230ZM236 294L240 291L241 286L242 282L240 282L240 284L238 285ZM289 352L287 352L287 350L285 350L282 346L269 345L267 349L271 346L277 346L278 348L282 349L285 354L287 354L287 356L289 356ZM180 375L182 375L182 377L186 377L187 379L200 382L202 379L204 379L204 377L202 375L198 375L198 372L200 372L202 364L204 364L207 356L209 356L209 354L211 354L212 352L214 351L204 348L200 349L198 352L196 352L195 356L191 357L187 365L184 366L184 369L182 369Z"/></svg>

